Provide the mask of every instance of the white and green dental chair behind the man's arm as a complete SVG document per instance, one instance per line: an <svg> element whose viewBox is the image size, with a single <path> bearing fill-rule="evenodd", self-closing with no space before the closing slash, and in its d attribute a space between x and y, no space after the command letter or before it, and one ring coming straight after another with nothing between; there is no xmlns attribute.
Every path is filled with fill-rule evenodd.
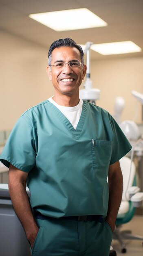
<svg viewBox="0 0 143 256"><path fill-rule="evenodd" d="M143 201L143 193L136 186L136 167L134 162L128 157L120 159L120 166L123 174L123 196L121 206L116 220L116 227L113 239L117 239L121 244L121 252L126 253L127 249L123 239L135 239L143 242L143 236L133 235L130 230L120 231L121 226L134 217L136 207L140 207Z"/></svg>

